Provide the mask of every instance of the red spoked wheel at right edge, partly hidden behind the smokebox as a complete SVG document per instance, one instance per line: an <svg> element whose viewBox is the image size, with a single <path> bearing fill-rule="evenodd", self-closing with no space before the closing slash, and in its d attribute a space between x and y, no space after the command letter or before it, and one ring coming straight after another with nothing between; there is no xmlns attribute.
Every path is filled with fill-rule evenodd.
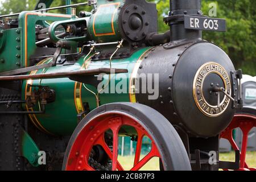
<svg viewBox="0 0 256 182"><path fill-rule="evenodd" d="M220 138L229 140L229 143L231 144L233 150L239 150L236 142L233 139L233 130L238 127L242 130L243 133L242 147L240 152L240 168L238 170L256 171L256 168L250 168L245 162L248 134L250 130L253 129L253 127L256 127L255 109L251 109L250 107L243 109L242 112L237 113L234 116L230 125L224 131L222 131Z"/></svg>

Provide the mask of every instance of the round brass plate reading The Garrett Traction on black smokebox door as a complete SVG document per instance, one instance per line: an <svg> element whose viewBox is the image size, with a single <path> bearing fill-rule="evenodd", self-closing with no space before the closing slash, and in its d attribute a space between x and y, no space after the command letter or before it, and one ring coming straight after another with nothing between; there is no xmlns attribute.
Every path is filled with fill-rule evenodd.
<svg viewBox="0 0 256 182"><path fill-rule="evenodd" d="M195 99L198 109L209 117L218 117L228 108L230 99L224 95L224 98L220 100L220 106L210 105L207 100L205 100L203 92L204 84L211 84L205 82L205 78L211 73L217 74L220 76L221 80L224 83L225 92L231 94L231 84L228 72L225 70L222 65L215 62L208 62L202 65L199 70L196 72L194 81L193 81L193 97ZM207 93L208 94L208 93ZM214 96L213 92L213 96ZM217 100L217 97L216 97Z"/></svg>

